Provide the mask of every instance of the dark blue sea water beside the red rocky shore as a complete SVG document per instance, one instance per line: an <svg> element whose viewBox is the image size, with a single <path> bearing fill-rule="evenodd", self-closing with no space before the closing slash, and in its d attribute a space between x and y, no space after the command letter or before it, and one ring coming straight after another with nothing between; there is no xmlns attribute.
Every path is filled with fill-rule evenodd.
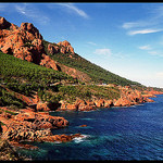
<svg viewBox="0 0 163 163"><path fill-rule="evenodd" d="M92 112L51 112L70 122L53 134L80 133L71 142L33 142L39 150L22 153L35 160L163 160L163 95L155 102ZM79 125L87 127L79 127Z"/></svg>

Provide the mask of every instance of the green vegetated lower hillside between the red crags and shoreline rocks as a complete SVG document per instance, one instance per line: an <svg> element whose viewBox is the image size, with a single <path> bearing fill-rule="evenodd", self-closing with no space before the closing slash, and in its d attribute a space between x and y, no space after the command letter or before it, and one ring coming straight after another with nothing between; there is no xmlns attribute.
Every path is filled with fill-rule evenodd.
<svg viewBox="0 0 163 163"><path fill-rule="evenodd" d="M15 93L32 97L38 92L42 101L59 103L60 100L73 102L76 98L92 99L120 98L117 88L78 85L78 80L65 73L16 59L0 52L0 105L26 106ZM7 91L9 88L13 92Z"/></svg>

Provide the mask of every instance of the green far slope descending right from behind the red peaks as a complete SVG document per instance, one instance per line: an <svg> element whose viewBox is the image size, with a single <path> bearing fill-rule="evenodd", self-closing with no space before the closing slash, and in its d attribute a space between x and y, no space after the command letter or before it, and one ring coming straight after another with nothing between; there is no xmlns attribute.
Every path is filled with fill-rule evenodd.
<svg viewBox="0 0 163 163"><path fill-rule="evenodd" d="M51 59L58 61L61 64L64 64L68 67L76 68L85 74L87 74L90 79L87 80L87 83L105 83L105 84L115 84L115 85L121 85L121 86L130 86L130 85L137 85L141 86L139 83L131 82L129 79L126 79L124 77L121 77L118 75L115 75L89 61L86 59L82 58L77 53L61 53L61 52L50 52L48 50L48 45L53 45L58 46L57 43L50 43L48 41L43 40L43 46L47 54L51 57ZM58 64L59 64L58 63ZM59 64L60 65L60 64ZM62 65L60 65L62 67Z"/></svg>

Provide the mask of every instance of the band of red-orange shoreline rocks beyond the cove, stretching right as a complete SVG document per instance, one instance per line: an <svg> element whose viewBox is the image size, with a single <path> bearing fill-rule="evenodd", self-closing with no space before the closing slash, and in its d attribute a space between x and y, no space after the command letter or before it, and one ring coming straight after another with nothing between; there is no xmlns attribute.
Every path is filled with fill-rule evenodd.
<svg viewBox="0 0 163 163"><path fill-rule="evenodd" d="M78 110L78 111L91 111L97 108L110 108L110 106L130 106L134 104L139 104L142 102L153 102L153 100L148 99L148 97L153 97L156 91L147 91L147 95L142 95L141 91L137 89L131 89L129 87L120 87L121 98L114 100L105 99L93 99L93 100L76 100L74 104L70 104L66 101L61 102L61 108L58 110ZM158 92L161 93L161 92ZM162 92L163 93L163 92Z"/></svg>

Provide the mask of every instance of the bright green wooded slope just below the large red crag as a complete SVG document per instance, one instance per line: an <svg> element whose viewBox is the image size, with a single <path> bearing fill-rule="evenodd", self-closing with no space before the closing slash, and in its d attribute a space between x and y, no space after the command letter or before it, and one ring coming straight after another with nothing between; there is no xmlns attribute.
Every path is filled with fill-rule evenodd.
<svg viewBox="0 0 163 163"><path fill-rule="evenodd" d="M20 77L20 80L35 82L40 85L52 84L62 79L73 80L71 76L62 72L36 65L2 52L0 52L0 65L1 78L7 78L4 79L7 83L13 77L16 77L16 79Z"/></svg>

